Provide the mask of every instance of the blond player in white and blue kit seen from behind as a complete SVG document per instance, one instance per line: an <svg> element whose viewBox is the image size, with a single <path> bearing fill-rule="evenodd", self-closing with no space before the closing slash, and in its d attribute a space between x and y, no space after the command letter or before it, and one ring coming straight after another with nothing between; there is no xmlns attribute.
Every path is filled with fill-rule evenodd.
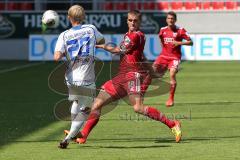
<svg viewBox="0 0 240 160"><path fill-rule="evenodd" d="M54 60L65 57L68 69L65 74L72 101L72 124L67 136L60 142L59 148L67 148L70 140L79 133L88 117L87 108L91 107L95 97L94 56L95 45L105 43L103 35L94 25L82 25L85 11L80 5L73 5L68 10L68 19L72 28L62 32L57 40Z"/></svg>

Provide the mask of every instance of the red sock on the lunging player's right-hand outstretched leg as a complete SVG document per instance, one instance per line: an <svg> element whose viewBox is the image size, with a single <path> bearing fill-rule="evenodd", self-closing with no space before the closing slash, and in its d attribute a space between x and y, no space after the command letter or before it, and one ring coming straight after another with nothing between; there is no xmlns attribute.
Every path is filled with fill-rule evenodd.
<svg viewBox="0 0 240 160"><path fill-rule="evenodd" d="M172 128L175 125L173 120L168 119L163 113L158 111L156 108L149 107L149 106L145 107L145 115L151 119L154 119L156 121L160 121L166 124L169 128Z"/></svg>

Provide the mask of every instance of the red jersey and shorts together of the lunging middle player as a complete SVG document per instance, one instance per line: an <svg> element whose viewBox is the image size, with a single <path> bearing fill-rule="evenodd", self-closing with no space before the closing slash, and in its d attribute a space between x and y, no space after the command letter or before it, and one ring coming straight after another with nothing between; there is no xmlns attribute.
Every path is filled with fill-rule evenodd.
<svg viewBox="0 0 240 160"><path fill-rule="evenodd" d="M117 76L102 86L114 100L129 94L143 95L150 84L151 78L143 54L144 45L145 35L141 31L127 32L117 52L114 52L120 54Z"/></svg>

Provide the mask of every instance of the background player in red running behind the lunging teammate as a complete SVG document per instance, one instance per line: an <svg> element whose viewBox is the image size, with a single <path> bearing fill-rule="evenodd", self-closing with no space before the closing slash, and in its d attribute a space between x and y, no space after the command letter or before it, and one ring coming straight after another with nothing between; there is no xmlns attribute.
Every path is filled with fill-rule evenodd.
<svg viewBox="0 0 240 160"><path fill-rule="evenodd" d="M168 69L170 72L170 95L166 102L167 107L174 105L174 93L177 86L176 74L181 61L181 45L193 45L187 31L176 26L176 21L176 13L173 11L168 12L166 18L167 26L162 27L159 32L162 52L153 64L154 71L161 75Z"/></svg>

